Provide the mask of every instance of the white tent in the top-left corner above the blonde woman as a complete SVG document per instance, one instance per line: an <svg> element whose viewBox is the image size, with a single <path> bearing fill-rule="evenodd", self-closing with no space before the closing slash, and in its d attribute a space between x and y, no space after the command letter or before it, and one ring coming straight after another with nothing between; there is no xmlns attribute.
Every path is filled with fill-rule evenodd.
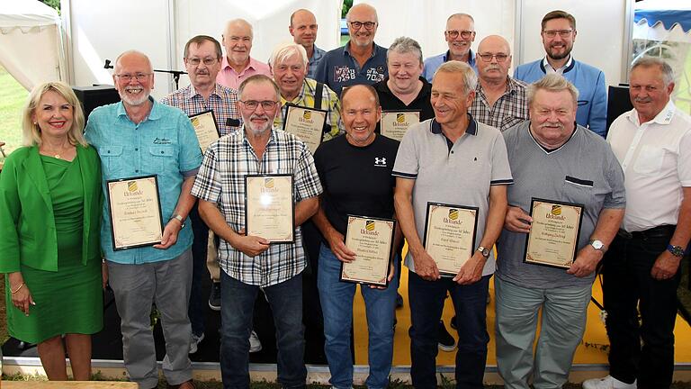
<svg viewBox="0 0 691 389"><path fill-rule="evenodd" d="M58 12L35 0L4 2L0 65L26 89L65 79Z"/></svg>

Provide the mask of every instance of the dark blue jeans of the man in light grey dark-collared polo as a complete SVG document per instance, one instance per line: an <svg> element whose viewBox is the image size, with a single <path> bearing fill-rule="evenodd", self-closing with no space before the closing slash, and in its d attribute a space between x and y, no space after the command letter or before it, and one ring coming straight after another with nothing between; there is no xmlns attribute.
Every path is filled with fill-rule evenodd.
<svg viewBox="0 0 691 389"><path fill-rule="evenodd" d="M410 377L413 386L436 387L438 326L446 292L456 312L456 388L482 388L487 363L487 294L489 277L472 285L458 285L451 277L426 281L408 272L410 302Z"/></svg>

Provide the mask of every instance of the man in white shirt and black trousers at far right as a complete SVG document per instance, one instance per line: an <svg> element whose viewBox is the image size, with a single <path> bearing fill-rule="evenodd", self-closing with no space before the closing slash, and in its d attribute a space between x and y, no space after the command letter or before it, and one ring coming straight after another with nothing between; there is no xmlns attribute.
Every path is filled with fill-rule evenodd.
<svg viewBox="0 0 691 389"><path fill-rule="evenodd" d="M691 238L691 117L669 100L674 75L664 60L637 60L629 83L633 110L607 135L626 188L603 267L610 375L586 389L669 388L674 373L679 263Z"/></svg>

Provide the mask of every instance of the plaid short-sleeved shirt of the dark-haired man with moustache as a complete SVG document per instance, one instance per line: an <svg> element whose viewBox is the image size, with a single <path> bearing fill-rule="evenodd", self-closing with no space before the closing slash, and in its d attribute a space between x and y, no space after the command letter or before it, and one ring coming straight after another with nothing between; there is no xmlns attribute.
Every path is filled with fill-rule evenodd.
<svg viewBox="0 0 691 389"><path fill-rule="evenodd" d="M242 118L238 113L238 93L235 89L219 84L216 84L216 90L211 93L208 101L204 101L202 95L198 94L194 90L194 86L190 85L162 98L161 104L179 108L187 116L209 110L213 111L220 136L236 131L242 125ZM236 125L229 125L229 119L234 121L233 124Z"/></svg>

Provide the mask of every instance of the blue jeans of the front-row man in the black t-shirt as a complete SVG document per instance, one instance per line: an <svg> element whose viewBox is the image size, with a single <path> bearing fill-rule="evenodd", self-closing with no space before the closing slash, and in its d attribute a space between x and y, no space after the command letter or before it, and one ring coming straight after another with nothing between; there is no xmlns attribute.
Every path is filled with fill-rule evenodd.
<svg viewBox="0 0 691 389"><path fill-rule="evenodd" d="M398 260L394 260L398 263ZM353 358L350 333L353 328L353 298L357 285L340 282L341 261L325 245L319 250L319 299L324 312L324 351L327 354L329 383L338 389L353 386ZM398 276L386 289L360 288L367 312L368 361L370 375L365 384L370 389L389 384L393 357L393 318L396 310Z"/></svg>

